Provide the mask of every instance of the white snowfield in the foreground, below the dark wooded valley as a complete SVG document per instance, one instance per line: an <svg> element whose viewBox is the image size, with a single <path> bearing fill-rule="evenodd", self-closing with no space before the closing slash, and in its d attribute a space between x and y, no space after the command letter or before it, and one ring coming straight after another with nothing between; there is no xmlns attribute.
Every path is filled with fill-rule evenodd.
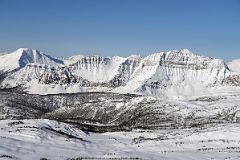
<svg viewBox="0 0 240 160"><path fill-rule="evenodd" d="M1 120L0 160L240 159L240 124L200 128L84 132L57 121Z"/></svg>

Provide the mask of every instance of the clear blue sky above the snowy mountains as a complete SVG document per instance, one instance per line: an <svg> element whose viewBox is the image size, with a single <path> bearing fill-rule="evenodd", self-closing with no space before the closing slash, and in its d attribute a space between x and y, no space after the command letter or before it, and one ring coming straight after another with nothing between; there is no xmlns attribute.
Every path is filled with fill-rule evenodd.
<svg viewBox="0 0 240 160"><path fill-rule="evenodd" d="M240 0L0 0L0 51L240 58Z"/></svg>

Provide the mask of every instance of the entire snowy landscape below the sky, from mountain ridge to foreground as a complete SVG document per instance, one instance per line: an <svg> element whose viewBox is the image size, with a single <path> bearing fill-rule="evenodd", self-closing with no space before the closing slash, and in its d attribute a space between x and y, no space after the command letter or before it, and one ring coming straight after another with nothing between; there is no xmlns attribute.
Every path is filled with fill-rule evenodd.
<svg viewBox="0 0 240 160"><path fill-rule="evenodd" d="M0 159L239 159L237 66L187 49L2 54Z"/></svg>

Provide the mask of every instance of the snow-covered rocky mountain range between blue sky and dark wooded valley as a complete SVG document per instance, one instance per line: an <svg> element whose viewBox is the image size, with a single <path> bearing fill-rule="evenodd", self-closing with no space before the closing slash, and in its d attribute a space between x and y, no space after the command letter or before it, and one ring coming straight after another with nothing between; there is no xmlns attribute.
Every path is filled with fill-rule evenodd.
<svg viewBox="0 0 240 160"><path fill-rule="evenodd" d="M76 55L62 60L20 48L0 55L0 73L1 88L21 87L36 94L110 91L168 97L240 86L240 75L223 60L187 49L146 57Z"/></svg>

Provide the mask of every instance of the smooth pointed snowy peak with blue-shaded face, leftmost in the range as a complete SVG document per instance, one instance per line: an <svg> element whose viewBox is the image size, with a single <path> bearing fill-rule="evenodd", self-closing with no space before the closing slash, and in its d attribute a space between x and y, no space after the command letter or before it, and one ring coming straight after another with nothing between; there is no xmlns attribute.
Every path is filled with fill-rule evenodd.
<svg viewBox="0 0 240 160"><path fill-rule="evenodd" d="M0 55L0 70L13 71L26 66L29 63L44 64L50 66L60 66L61 60L52 58L38 50L20 48L15 52Z"/></svg>

